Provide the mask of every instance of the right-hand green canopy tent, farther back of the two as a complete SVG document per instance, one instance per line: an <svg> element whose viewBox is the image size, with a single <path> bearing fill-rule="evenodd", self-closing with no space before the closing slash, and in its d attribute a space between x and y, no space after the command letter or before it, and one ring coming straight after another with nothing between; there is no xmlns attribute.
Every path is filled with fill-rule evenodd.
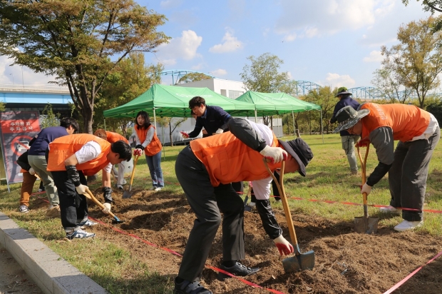
<svg viewBox="0 0 442 294"><path fill-rule="evenodd" d="M302 101L294 98L286 93L260 93L254 91L247 91L237 98L237 101L244 101L255 104L255 121L257 116L272 116L274 114L292 113L293 128L294 128L294 113L302 111L317 110L321 115L322 126L322 110L321 106ZM240 111L233 111L232 114L237 115ZM324 133L322 134L324 136ZM324 140L324 138L323 138Z"/></svg>

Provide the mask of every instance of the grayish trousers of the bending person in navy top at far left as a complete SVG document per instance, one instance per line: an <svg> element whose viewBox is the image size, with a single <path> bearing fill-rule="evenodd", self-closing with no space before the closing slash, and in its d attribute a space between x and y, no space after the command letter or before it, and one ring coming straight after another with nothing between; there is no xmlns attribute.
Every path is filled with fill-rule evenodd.
<svg viewBox="0 0 442 294"><path fill-rule="evenodd" d="M52 174L50 171L46 171L48 163L44 155L30 155L28 156L29 166L34 168L37 175L43 181L43 186L46 190L46 196L48 196L48 201L53 206L60 205L60 200L58 199L57 188L53 183Z"/></svg>

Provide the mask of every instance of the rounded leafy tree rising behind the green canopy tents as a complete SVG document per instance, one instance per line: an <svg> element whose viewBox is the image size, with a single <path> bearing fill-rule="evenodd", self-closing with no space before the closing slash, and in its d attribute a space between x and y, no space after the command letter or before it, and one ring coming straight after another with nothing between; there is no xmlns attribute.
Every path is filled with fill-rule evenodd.
<svg viewBox="0 0 442 294"><path fill-rule="evenodd" d="M293 91L293 81L290 81L287 72L279 73L279 66L284 64L276 55L264 53L257 58L249 56L247 59L252 63L242 68L242 82L246 91L261 93L277 93L281 90ZM285 92L284 92L285 93ZM264 123L269 124L269 117L263 116Z"/></svg>

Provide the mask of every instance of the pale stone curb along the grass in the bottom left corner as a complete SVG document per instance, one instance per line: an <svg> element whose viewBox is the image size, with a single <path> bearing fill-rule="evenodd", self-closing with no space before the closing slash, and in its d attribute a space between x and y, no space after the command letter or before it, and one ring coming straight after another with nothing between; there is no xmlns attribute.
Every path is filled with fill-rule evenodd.
<svg viewBox="0 0 442 294"><path fill-rule="evenodd" d="M47 294L108 294L87 275L0 212L0 243Z"/></svg>

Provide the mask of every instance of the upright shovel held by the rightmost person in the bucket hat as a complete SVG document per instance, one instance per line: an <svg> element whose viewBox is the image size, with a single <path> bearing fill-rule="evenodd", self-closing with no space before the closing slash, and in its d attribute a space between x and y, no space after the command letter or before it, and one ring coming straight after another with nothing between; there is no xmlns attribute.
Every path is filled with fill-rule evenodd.
<svg viewBox="0 0 442 294"><path fill-rule="evenodd" d="M364 162L362 162L362 156L361 152L359 151L358 144L356 144L356 147L358 149L359 161L361 161L362 185L364 185L366 182L366 162L367 157L369 156L370 146L368 145L367 150L365 151ZM356 233L366 234L377 233L379 218L369 217L369 210L367 208L367 194L364 193L362 196L364 201L364 216L354 218L354 231Z"/></svg>

